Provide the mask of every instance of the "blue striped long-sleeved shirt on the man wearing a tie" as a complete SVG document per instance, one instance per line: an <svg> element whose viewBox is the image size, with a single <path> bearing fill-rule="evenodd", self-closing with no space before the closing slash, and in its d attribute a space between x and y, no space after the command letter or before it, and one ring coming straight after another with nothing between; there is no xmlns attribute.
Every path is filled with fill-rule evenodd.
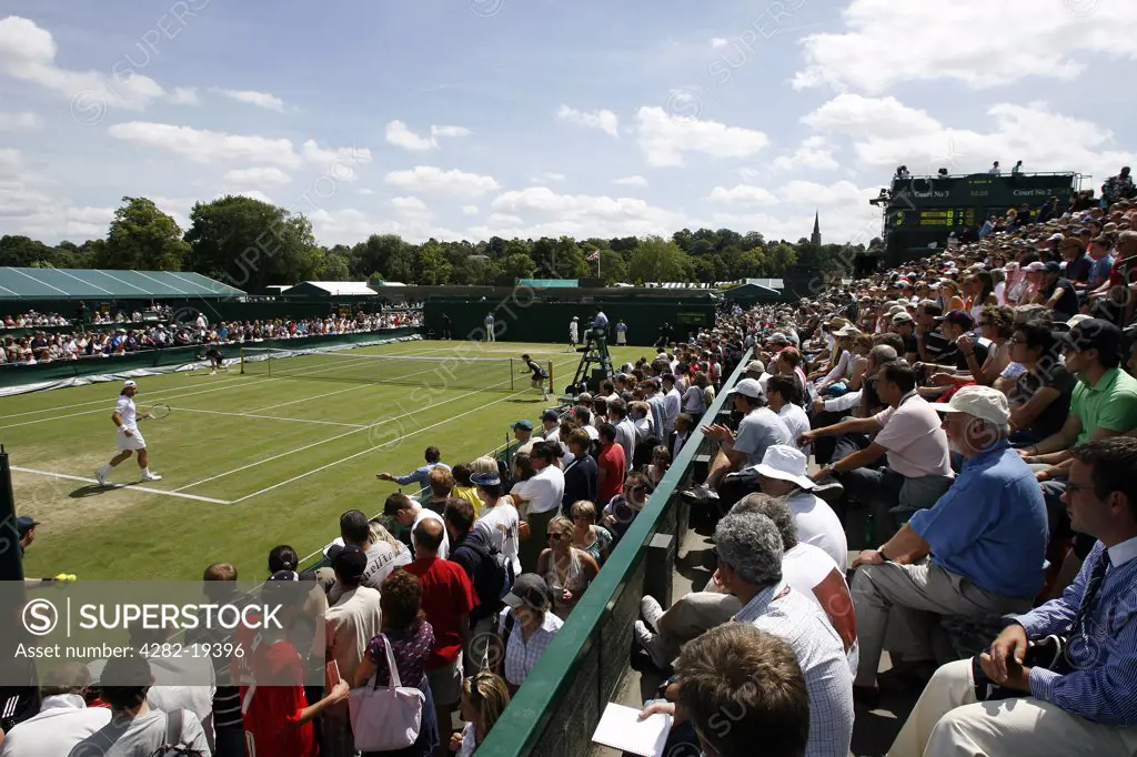
<svg viewBox="0 0 1137 757"><path fill-rule="evenodd" d="M1052 599L1015 619L1031 639L1067 633L1073 624L1090 573L1104 550L1094 544L1078 577L1061 599ZM1070 644L1074 669L1065 675L1030 669L1030 693L1068 713L1104 725L1137 725L1137 539L1110 548L1106 571L1086 614L1084 639Z"/></svg>

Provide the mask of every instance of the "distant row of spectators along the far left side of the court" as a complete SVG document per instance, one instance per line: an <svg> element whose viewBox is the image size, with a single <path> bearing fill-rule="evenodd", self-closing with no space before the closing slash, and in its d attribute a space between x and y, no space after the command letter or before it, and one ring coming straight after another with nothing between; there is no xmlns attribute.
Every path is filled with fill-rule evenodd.
<svg viewBox="0 0 1137 757"><path fill-rule="evenodd" d="M163 317L168 318L169 314ZM186 323L152 319L142 322L142 314L127 316L119 313L92 324L75 323L73 332L35 331L31 335L2 335L0 332L0 364L38 365L58 360L122 357L134 352L169 347L217 346L256 343L265 340L302 339L317 334L356 334L422 325L421 310L385 310L355 316L331 316L301 319L254 319L210 323L198 314ZM19 319L13 319L18 323ZM100 325L127 325L100 328ZM45 324L35 324L45 325ZM59 325L59 324L55 324ZM67 325L65 322L63 325ZM25 321L25 326L28 324ZM34 327L34 325L33 325Z"/></svg>

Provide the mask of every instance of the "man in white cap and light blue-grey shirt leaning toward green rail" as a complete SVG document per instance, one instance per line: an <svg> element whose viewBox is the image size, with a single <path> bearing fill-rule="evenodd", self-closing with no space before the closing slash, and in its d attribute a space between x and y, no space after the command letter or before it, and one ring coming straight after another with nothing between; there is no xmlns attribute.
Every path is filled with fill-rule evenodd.
<svg viewBox="0 0 1137 757"><path fill-rule="evenodd" d="M766 448L771 444L791 444L789 429L778 417L778 414L763 407L762 386L754 378L742 378L735 385L732 392L735 409L742 414L738 422L738 431L731 431L724 425L714 424L703 427L703 434L719 442L719 455L711 464L707 480L688 490L689 496L698 501L719 499L719 483L731 471L738 471L748 465L757 465ZM724 502L725 506L732 502Z"/></svg>

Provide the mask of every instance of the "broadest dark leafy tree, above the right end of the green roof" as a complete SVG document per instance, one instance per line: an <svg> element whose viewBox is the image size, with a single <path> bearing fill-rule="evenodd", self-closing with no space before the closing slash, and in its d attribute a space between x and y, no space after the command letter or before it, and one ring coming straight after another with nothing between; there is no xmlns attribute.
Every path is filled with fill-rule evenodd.
<svg viewBox="0 0 1137 757"><path fill-rule="evenodd" d="M319 248L302 215L248 197L198 202L185 241L193 271L246 291L310 280Z"/></svg>

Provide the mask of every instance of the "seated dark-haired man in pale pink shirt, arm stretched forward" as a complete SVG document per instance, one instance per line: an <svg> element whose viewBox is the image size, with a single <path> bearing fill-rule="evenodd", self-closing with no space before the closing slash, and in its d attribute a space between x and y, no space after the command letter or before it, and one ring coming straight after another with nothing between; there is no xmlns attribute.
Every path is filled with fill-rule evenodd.
<svg viewBox="0 0 1137 757"><path fill-rule="evenodd" d="M915 388L912 366L904 360L886 364L877 374L877 394L888 409L870 418L814 429L799 440L810 443L819 436L875 434L868 447L845 457L840 457L844 450L838 446L835 461L813 474L814 480L835 476L845 486L845 496L835 507L843 522L853 502L869 509L874 544L896 533L894 508L912 513L931 507L952 485L947 435L936 410ZM887 460L882 467L881 458Z"/></svg>

